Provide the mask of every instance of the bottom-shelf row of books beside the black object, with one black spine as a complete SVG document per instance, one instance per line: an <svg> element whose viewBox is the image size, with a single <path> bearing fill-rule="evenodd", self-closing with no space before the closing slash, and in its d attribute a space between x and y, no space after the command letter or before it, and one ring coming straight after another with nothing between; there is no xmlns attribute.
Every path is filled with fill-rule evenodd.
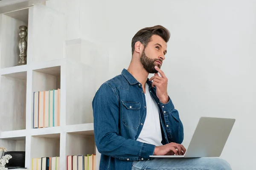
<svg viewBox="0 0 256 170"><path fill-rule="evenodd" d="M60 157L42 157L32 159L32 170L59 170Z"/></svg>

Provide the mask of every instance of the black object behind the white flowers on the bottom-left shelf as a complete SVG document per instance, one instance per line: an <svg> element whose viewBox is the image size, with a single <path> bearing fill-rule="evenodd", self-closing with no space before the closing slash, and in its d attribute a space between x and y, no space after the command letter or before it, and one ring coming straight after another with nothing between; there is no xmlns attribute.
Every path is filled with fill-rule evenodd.
<svg viewBox="0 0 256 170"><path fill-rule="evenodd" d="M5 165L8 169L25 168L25 151L9 151L4 155L11 155L12 158Z"/></svg>

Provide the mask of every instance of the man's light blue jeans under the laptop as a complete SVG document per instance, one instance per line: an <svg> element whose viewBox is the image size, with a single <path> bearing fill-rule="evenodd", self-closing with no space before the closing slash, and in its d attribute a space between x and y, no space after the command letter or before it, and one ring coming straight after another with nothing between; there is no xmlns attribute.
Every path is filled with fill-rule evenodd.
<svg viewBox="0 0 256 170"><path fill-rule="evenodd" d="M134 161L132 170L231 170L220 158L155 158Z"/></svg>

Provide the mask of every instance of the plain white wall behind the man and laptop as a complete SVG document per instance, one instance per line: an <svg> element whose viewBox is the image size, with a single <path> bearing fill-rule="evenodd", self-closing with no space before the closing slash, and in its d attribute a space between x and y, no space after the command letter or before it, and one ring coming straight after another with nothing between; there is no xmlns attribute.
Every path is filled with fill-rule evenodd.
<svg viewBox="0 0 256 170"><path fill-rule="evenodd" d="M233 170L252 169L256 159L253 0L67 2L67 39L83 38L107 49L97 59L101 83L128 68L131 39L140 28L158 24L168 28L171 39L162 69L185 128L183 144L188 146L200 116L236 118L221 158Z"/></svg>

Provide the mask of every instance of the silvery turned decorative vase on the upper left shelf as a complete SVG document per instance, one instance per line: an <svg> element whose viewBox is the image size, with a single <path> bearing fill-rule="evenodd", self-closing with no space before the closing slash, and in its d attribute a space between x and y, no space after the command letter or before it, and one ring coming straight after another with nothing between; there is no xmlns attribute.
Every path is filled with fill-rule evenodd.
<svg viewBox="0 0 256 170"><path fill-rule="evenodd" d="M17 65L25 65L26 64L26 49L27 49L27 42L26 42L27 27L20 26L19 29L20 29L20 33L19 33L19 36L20 36L20 41L19 41L20 55L19 55L19 57L20 57L20 60Z"/></svg>

